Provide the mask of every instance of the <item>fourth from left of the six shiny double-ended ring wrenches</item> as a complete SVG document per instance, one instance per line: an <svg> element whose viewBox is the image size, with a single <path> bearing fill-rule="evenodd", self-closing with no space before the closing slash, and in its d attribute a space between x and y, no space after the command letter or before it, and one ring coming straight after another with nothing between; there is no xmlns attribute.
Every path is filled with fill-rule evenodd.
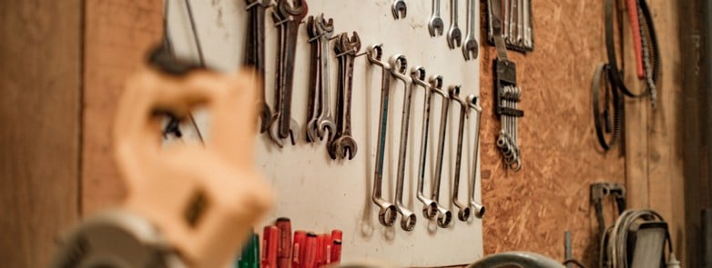
<svg viewBox="0 0 712 268"><path fill-rule="evenodd" d="M435 76L431 77L430 84L432 86L432 92L435 94L440 94L442 96L442 108L441 108L441 119L440 119L440 136L438 137L438 153L435 163L435 177L432 183L431 199L435 203L438 203L438 226L446 228L450 225L453 220L453 213L450 210L442 207L440 205L440 182L442 178L442 161L445 154L445 136L447 132L447 120L448 113L450 111L450 95L442 90L442 79L437 81ZM459 89L460 86L457 86Z"/></svg>

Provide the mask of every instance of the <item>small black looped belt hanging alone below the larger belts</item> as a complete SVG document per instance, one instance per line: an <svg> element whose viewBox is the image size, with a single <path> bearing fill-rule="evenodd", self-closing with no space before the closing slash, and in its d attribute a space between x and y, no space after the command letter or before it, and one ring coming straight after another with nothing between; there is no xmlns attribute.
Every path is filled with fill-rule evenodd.
<svg viewBox="0 0 712 268"><path fill-rule="evenodd" d="M621 133L621 99L618 94L618 92L613 88L611 85L611 70L609 69L609 65L605 64L600 64L595 67L595 72L594 72L594 78L593 81L591 82L591 94L592 94L592 99L593 99L593 106L594 106L594 124L595 124L595 135L596 138L598 138L598 143L601 144L601 147L605 151L608 151L612 149L615 144L618 142L618 138ZM605 94L612 94L613 98L606 98L605 100L605 106L604 110L607 111L609 108L613 108L613 134L611 134L611 137L609 140L605 139L605 120L607 118L603 118L604 114L601 112L601 106L600 102L598 100L599 94L600 94L600 89L601 89L601 81L604 81L604 90ZM604 121L604 122L602 122Z"/></svg>

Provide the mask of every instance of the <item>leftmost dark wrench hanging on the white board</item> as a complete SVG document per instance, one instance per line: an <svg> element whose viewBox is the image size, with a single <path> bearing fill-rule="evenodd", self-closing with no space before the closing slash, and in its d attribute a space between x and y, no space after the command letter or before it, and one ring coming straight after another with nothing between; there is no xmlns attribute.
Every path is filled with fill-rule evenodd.
<svg viewBox="0 0 712 268"><path fill-rule="evenodd" d="M267 104L265 92L265 10L271 0L245 0L249 6L248 31L244 65L255 68L258 79L262 81L259 95L259 133L270 129L272 110Z"/></svg>

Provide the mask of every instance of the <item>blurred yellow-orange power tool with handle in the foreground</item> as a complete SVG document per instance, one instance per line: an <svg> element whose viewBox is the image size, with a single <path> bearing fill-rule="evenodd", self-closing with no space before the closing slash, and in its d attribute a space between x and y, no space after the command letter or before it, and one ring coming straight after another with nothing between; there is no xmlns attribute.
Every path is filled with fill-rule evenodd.
<svg viewBox="0 0 712 268"><path fill-rule="evenodd" d="M163 49L127 82L117 110L121 207L79 223L52 267L220 267L229 263L272 204L254 163L253 74L218 74ZM211 118L206 144L161 146L161 115Z"/></svg>

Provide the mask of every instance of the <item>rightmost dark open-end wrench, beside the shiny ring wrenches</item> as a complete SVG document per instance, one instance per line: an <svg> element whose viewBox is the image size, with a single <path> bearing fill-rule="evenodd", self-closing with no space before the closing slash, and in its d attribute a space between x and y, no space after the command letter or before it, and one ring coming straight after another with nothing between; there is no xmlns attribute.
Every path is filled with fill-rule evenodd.
<svg viewBox="0 0 712 268"><path fill-rule="evenodd" d="M339 44L335 47L337 54L343 54L340 59L339 105L337 106L337 134L331 143L331 150L341 159L349 160L356 156L359 150L356 140L351 135L351 91L353 85L353 61L361 50L361 38L353 32L351 40L346 33L341 34Z"/></svg>

